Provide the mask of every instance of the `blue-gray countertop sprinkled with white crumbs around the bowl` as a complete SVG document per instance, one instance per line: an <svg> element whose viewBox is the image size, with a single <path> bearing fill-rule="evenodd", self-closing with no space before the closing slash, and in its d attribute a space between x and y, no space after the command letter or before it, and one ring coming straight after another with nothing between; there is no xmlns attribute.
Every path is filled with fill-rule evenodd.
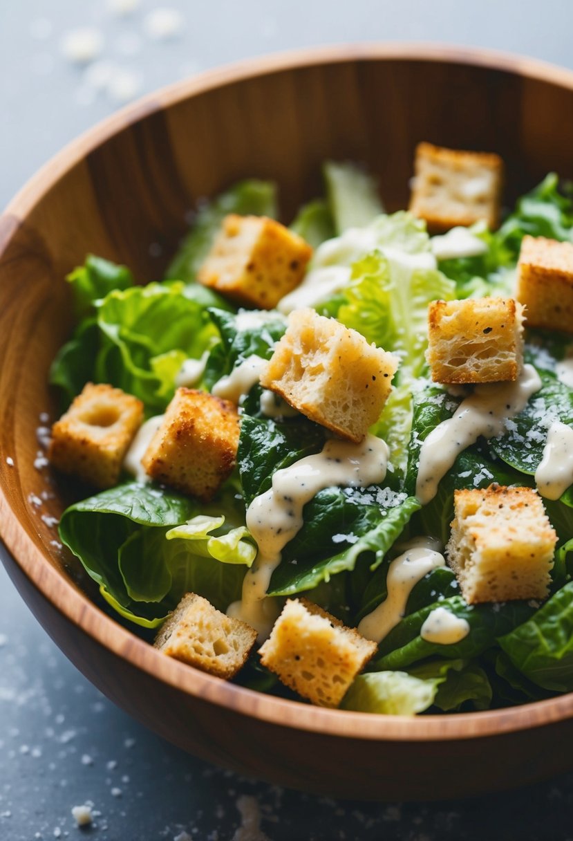
<svg viewBox="0 0 573 841"><path fill-rule="evenodd" d="M573 66L573 6L563 0L168 3L180 19L171 19L173 37L160 40L153 34L161 19L149 17L162 6L154 0L134 2L124 17L120 0L0 0L0 206L130 93L246 56L352 40L439 40ZM95 71L62 52L66 32L86 26L103 37ZM100 841L567 841L572 782L567 775L471 801L374 805L283 791L214 769L94 689L0 569L0 841L85 833ZM71 807L87 801L94 822L80 830Z"/></svg>

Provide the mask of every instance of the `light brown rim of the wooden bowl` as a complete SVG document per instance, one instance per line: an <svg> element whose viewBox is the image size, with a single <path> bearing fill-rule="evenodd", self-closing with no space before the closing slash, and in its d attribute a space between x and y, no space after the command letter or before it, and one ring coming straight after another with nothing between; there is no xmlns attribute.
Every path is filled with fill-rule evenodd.
<svg viewBox="0 0 573 841"><path fill-rule="evenodd" d="M215 87L224 87L252 77L291 71L304 66L345 61L447 61L512 72L535 81L550 82L573 90L573 71L537 59L481 48L428 42L363 42L288 50L271 56L238 61L202 72L146 95L97 123L72 140L50 159L8 204L8 236L0 241L0 255L11 239L14 226L34 209L60 178L89 152L139 119L181 103ZM0 223L3 218L0 217ZM14 225L15 223L15 225ZM9 453L4 453L6 458ZM545 701L501 710L444 714L434 717L383 716L371 713L329 710L300 701L267 696L255 690L189 668L152 648L134 632L107 616L87 595L76 589L45 559L20 525L0 487L0 553L8 554L36 590L61 615L97 643L128 660L129 664L198 700L227 707L245 717L255 717L281 727L339 738L366 741L434 742L516 733L529 727L544 727L573 717L573 693ZM18 559L17 559L18 558Z"/></svg>

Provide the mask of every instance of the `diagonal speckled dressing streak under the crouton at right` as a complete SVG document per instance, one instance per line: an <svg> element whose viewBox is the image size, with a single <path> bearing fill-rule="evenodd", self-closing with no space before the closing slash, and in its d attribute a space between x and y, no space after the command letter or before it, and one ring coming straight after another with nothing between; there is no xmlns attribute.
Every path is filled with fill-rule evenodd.
<svg viewBox="0 0 573 841"><path fill-rule="evenodd" d="M541 379L533 365L524 365L514 383L476 385L455 415L436 426L423 442L416 482L418 501L426 505L434 499L439 480L460 452L475 444L480 436L502 435L505 421L517 415L540 388Z"/></svg>

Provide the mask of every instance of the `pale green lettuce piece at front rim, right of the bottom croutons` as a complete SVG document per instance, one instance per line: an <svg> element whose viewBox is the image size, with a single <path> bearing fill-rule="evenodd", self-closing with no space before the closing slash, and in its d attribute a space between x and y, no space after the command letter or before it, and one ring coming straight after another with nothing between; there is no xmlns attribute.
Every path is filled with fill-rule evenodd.
<svg viewBox="0 0 573 841"><path fill-rule="evenodd" d="M415 716L432 706L444 676L420 679L400 671L359 674L342 699L343 710Z"/></svg>

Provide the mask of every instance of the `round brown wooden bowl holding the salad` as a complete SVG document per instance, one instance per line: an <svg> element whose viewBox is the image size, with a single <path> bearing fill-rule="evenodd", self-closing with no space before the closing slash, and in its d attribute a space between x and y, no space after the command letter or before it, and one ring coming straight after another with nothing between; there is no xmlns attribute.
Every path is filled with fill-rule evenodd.
<svg viewBox="0 0 573 841"><path fill-rule="evenodd" d="M387 208L402 208L418 140L499 152L511 201L549 170L573 176L572 113L572 73L482 51L355 45L250 61L98 125L0 218L3 561L78 669L156 733L214 763L343 797L464 796L570 766L571 695L455 716L371 716L260 695L166 658L93 603L60 557L41 515L60 516L66 501L37 505L52 486L34 458L39 415L53 409L50 360L71 330L62 278L87 251L142 281L160 278L198 197L239 177L276 178L288 220L318 193L325 158L364 161Z"/></svg>

